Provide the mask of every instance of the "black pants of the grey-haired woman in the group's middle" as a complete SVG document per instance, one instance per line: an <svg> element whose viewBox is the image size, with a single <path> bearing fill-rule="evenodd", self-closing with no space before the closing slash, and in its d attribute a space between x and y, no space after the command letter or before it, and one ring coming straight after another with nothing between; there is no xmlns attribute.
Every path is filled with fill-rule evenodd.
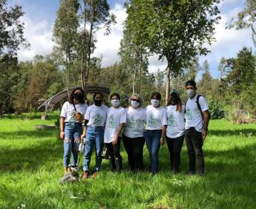
<svg viewBox="0 0 256 209"><path fill-rule="evenodd" d="M124 148L127 151L128 163L131 170L142 170L143 165L143 146L145 143L144 137L129 138L122 136Z"/></svg>

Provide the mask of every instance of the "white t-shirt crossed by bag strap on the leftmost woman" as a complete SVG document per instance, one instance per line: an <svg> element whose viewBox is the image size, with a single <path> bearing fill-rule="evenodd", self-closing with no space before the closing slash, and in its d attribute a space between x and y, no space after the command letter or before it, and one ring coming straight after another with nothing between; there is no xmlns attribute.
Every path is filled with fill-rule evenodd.
<svg viewBox="0 0 256 209"><path fill-rule="evenodd" d="M86 103L78 103L75 105L77 108L77 112L79 112L82 116L85 116L85 113L87 111L87 104ZM80 121L77 121L74 116L74 105L72 103L69 103L68 101L64 103L64 105L61 108L61 117L65 118L65 122L76 122L81 123Z"/></svg>

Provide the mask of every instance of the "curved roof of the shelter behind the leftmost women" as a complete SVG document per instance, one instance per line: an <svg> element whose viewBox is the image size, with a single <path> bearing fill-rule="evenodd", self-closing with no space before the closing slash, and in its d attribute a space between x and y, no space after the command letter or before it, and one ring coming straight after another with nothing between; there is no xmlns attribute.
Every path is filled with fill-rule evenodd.
<svg viewBox="0 0 256 209"><path fill-rule="evenodd" d="M82 88L82 86L77 86L77 87L80 87ZM72 87L72 88L69 88L69 91L73 91L74 88L77 88L77 87ZM88 93L96 93L96 92L102 92L104 95L109 95L110 93L110 90L108 87L105 87L105 86L97 86L97 85L87 85L85 90L84 90L84 93L85 94L88 94ZM47 101L45 101L44 103L41 104L41 106L39 106L38 109L42 108L42 107L46 107L46 108L55 108L55 106L63 101L63 100L67 100L68 98L68 94L67 94L67 89L57 93L55 96L49 98Z"/></svg>

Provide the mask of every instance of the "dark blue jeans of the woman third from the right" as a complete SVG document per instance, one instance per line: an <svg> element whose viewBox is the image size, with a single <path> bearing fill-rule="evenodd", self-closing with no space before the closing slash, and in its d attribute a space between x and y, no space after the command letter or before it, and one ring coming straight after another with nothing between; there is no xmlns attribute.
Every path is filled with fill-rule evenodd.
<svg viewBox="0 0 256 209"><path fill-rule="evenodd" d="M159 148L160 138L162 136L162 130L146 130L145 140L147 144L147 150L149 151L149 158L152 165L152 172L157 172L159 164Z"/></svg>

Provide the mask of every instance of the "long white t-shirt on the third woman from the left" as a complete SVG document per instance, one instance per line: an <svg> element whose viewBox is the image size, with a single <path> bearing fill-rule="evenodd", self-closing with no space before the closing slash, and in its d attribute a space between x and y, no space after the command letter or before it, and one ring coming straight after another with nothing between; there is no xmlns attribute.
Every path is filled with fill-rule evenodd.
<svg viewBox="0 0 256 209"><path fill-rule="evenodd" d="M104 143L111 143L121 123L127 122L126 111L124 108L109 108L107 112L107 123L104 131Z"/></svg>

